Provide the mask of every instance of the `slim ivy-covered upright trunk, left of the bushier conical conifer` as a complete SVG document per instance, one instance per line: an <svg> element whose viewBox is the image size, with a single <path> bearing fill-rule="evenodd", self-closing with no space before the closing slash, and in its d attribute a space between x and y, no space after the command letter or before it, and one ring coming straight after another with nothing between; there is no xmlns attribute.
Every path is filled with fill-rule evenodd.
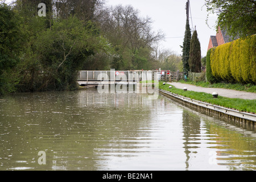
<svg viewBox="0 0 256 182"><path fill-rule="evenodd" d="M185 35L182 48L182 61L183 61L183 71L186 75L189 72L189 51L190 51L190 42L191 42L191 29L189 27L189 20L187 19L186 27L185 27Z"/></svg>

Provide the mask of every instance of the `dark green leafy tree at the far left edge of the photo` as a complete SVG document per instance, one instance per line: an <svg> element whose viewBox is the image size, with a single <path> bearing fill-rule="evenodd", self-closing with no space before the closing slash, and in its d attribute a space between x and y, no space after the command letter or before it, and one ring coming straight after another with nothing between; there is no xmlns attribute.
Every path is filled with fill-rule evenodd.
<svg viewBox="0 0 256 182"><path fill-rule="evenodd" d="M23 35L20 19L5 3L0 3L0 94L15 90L15 65L19 63Z"/></svg>

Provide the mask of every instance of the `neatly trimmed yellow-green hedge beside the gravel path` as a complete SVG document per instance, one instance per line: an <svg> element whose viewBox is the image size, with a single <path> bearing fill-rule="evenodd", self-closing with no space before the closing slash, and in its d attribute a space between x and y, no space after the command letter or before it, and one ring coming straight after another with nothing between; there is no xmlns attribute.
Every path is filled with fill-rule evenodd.
<svg viewBox="0 0 256 182"><path fill-rule="evenodd" d="M256 83L256 35L213 48L212 75L229 82Z"/></svg>

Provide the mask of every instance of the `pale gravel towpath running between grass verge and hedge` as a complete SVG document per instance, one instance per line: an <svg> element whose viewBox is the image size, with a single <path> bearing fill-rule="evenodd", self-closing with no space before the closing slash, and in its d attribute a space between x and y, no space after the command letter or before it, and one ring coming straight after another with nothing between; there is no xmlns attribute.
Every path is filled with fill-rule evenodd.
<svg viewBox="0 0 256 182"><path fill-rule="evenodd" d="M187 87L188 90L195 91L195 92L204 92L204 93L210 93L210 94L212 94L213 92L217 92L218 95L222 97L256 100L256 93L251 93L251 92L242 92L237 90L221 89L221 88L204 88L201 86L181 84L179 82L168 82L167 84L173 85L177 89L183 89L184 87Z"/></svg>

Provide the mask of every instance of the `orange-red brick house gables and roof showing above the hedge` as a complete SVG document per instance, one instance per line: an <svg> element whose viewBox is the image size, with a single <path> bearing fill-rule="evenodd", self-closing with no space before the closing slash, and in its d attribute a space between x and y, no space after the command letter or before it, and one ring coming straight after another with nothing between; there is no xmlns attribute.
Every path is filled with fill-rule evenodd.
<svg viewBox="0 0 256 182"><path fill-rule="evenodd" d="M236 40L236 39L239 39L239 37L236 37L234 40ZM217 46L220 46L222 44L232 42L232 41L233 41L233 39L231 36L228 35L228 32L226 30L221 30L221 28L218 27L216 36L215 35L210 36L210 41L209 41L207 51L210 48L217 47Z"/></svg>

